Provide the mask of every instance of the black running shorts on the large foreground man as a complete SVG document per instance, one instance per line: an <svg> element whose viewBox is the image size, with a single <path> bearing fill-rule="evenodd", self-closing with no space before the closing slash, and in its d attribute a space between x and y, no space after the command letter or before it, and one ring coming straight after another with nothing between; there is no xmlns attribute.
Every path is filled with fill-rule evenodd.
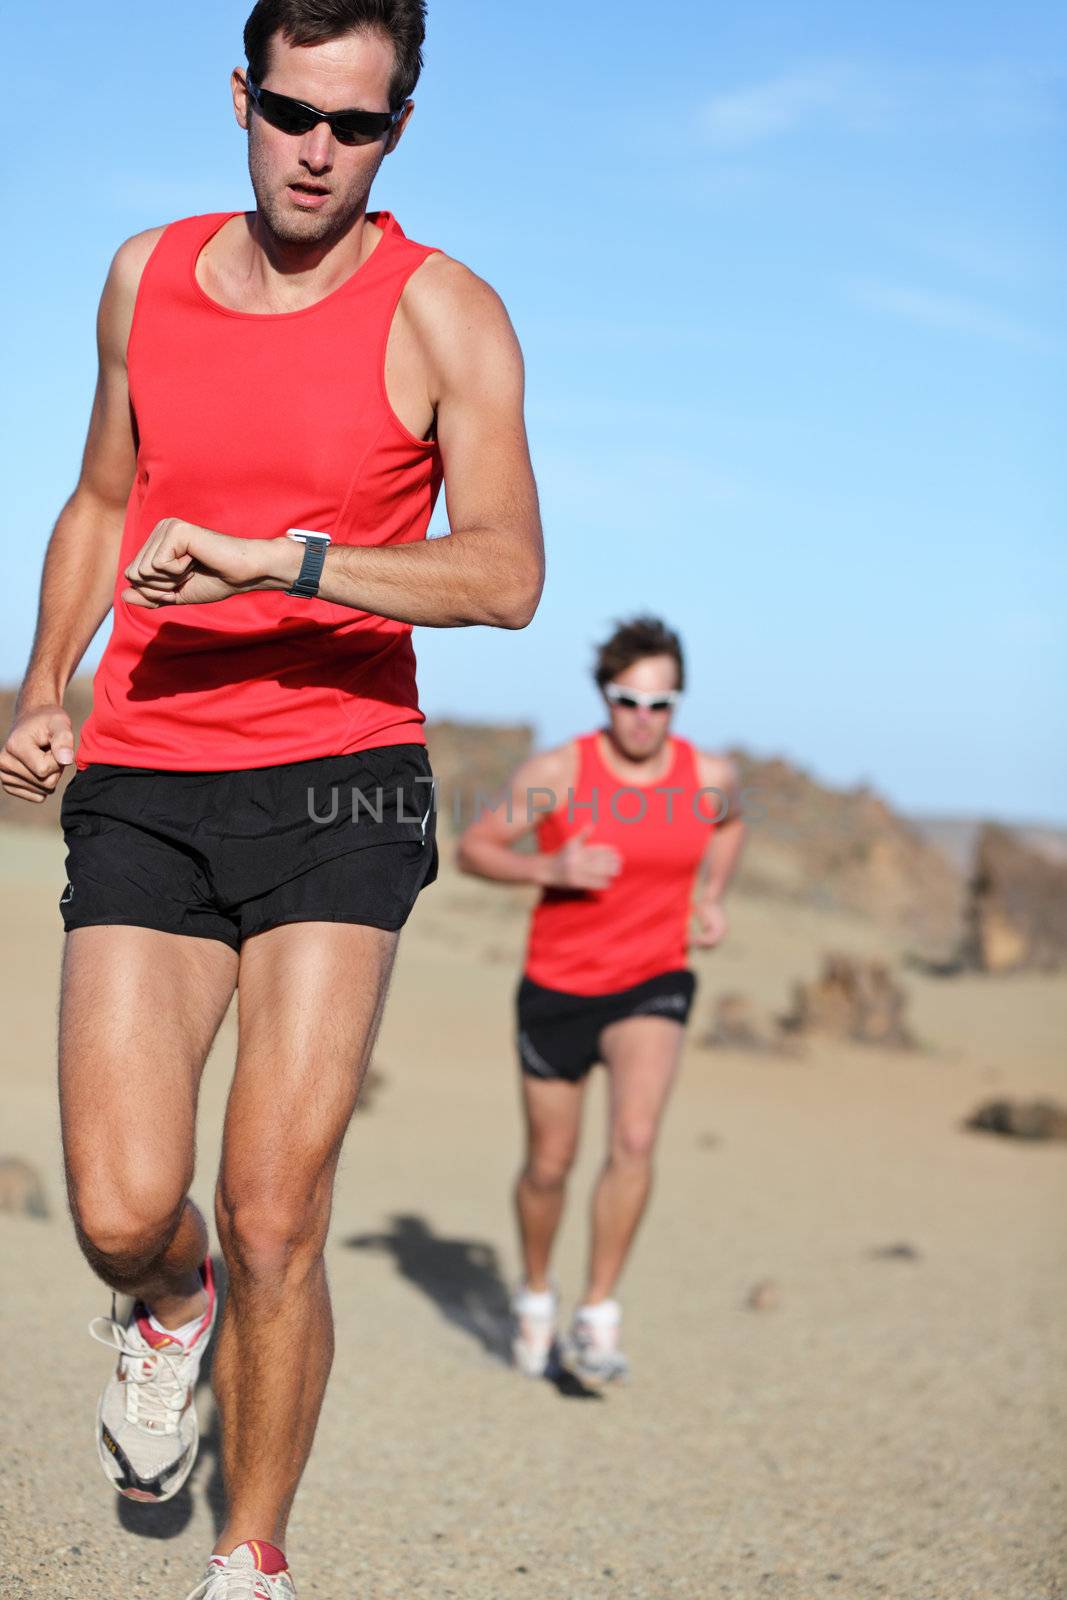
<svg viewBox="0 0 1067 1600"><path fill-rule="evenodd" d="M158 928L237 950L283 922L397 930L437 877L422 744L229 773L94 763L59 818L67 933Z"/></svg>

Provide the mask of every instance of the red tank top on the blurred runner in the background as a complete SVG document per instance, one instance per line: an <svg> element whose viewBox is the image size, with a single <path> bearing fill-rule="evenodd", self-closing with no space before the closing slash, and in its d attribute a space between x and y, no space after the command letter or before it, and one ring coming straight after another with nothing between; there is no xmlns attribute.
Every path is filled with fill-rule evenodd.
<svg viewBox="0 0 1067 1600"><path fill-rule="evenodd" d="M576 786L537 824L537 848L553 853L592 822L587 843L613 845L622 870L606 890L544 891L526 947L536 984L601 995L685 968L696 870L720 802L701 790L694 747L672 746L667 776L633 787L605 765L600 734L577 741Z"/></svg>

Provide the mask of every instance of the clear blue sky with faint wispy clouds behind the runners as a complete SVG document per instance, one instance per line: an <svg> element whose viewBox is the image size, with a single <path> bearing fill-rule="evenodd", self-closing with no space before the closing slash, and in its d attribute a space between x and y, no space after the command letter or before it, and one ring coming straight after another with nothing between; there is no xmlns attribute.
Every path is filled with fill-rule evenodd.
<svg viewBox="0 0 1067 1600"><path fill-rule="evenodd" d="M5 680L110 254L248 203L246 10L5 21ZM593 640L651 608L686 638L680 728L705 746L1067 821L1065 45L1025 0L432 0L373 203L507 301L549 586L523 634L416 634L430 715L590 726Z"/></svg>

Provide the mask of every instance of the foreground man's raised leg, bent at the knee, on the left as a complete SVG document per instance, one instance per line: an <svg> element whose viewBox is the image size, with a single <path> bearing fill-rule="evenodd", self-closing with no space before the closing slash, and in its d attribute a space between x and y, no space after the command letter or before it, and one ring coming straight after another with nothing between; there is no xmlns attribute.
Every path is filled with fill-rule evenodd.
<svg viewBox="0 0 1067 1600"><path fill-rule="evenodd" d="M187 1190L200 1075L235 979L219 939L126 926L66 936L59 1104L78 1242L109 1288L171 1328L206 1309L208 1237Z"/></svg>

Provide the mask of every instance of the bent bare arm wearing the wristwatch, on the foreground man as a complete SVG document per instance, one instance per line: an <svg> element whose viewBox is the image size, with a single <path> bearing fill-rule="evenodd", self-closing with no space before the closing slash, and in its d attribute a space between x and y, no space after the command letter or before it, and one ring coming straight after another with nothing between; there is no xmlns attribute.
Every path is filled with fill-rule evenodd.
<svg viewBox="0 0 1067 1600"><path fill-rule="evenodd" d="M544 584L537 488L523 421L523 357L498 294L446 256L411 278L403 312L437 418L451 534L334 544L322 600L422 627L525 627ZM166 518L128 568L130 605L197 605L290 589L304 547Z"/></svg>

